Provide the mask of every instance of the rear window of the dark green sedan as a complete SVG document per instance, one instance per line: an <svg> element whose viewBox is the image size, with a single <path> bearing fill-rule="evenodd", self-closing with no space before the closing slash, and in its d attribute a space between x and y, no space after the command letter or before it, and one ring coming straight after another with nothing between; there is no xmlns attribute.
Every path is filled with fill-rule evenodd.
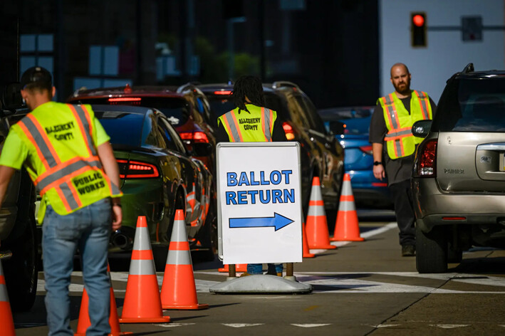
<svg viewBox="0 0 505 336"><path fill-rule="evenodd" d="M140 147L144 115L120 111L95 111L113 145Z"/></svg>

